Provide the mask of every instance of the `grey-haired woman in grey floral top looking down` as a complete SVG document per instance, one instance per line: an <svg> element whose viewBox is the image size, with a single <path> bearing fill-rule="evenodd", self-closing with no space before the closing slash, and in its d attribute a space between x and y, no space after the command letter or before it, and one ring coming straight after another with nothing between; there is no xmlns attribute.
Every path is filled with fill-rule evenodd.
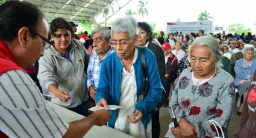
<svg viewBox="0 0 256 138"><path fill-rule="evenodd" d="M191 49L191 68L181 73L169 104L176 109L179 124L171 128L172 134L175 137L217 136L217 130L209 122L213 119L226 136L234 99L234 79L217 66L222 55L214 38L196 38Z"/></svg>

